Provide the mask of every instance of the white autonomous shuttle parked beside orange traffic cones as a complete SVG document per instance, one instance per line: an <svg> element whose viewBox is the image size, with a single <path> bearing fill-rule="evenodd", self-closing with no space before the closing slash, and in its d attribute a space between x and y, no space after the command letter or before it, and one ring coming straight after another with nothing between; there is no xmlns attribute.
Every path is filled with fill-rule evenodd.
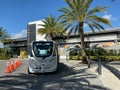
<svg viewBox="0 0 120 90"><path fill-rule="evenodd" d="M58 48L54 41L34 41L28 56L28 73L55 72L58 69Z"/></svg>

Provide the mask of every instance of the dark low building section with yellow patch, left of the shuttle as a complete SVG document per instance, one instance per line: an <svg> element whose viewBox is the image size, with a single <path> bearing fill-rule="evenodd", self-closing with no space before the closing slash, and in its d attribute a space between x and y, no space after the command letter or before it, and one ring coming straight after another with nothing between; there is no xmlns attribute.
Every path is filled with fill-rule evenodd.
<svg viewBox="0 0 120 90"><path fill-rule="evenodd" d="M27 38L11 39L11 42L4 43L4 48L11 57L26 57Z"/></svg>

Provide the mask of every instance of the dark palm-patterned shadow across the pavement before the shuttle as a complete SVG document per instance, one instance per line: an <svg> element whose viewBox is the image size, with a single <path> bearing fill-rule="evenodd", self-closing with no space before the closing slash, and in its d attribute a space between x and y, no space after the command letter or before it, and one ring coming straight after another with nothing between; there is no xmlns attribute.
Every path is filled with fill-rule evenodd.
<svg viewBox="0 0 120 90"><path fill-rule="evenodd" d="M86 68L87 69L87 68ZM8 74L0 77L2 90L108 90L99 85L90 85L87 79L95 79L93 74L84 74L86 69L75 71L60 63L57 73ZM76 79L77 78L77 79Z"/></svg>

